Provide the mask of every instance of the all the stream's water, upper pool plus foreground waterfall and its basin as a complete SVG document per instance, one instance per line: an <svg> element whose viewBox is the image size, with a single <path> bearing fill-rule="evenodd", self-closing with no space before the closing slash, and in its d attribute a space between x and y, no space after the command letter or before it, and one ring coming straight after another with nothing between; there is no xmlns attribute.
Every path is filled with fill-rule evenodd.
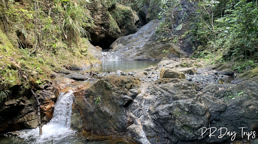
<svg viewBox="0 0 258 144"><path fill-rule="evenodd" d="M136 60L102 60L102 66L92 67L88 70L77 72L95 72L107 71L134 71L156 65L159 61L136 61ZM87 82L82 82L87 83ZM125 144L119 140L98 140L92 136L85 136L81 132L70 129L72 103L76 86L66 86L58 96L57 103L53 113L53 118L49 123L42 127L42 135L39 135L39 128L25 129L9 132L0 135L0 143L4 144ZM92 140L94 139L94 140Z"/></svg>

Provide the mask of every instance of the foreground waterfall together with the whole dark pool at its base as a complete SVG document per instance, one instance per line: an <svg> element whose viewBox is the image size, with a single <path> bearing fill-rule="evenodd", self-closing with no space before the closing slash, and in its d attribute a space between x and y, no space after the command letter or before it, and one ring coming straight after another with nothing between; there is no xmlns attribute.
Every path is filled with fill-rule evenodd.
<svg viewBox="0 0 258 144"><path fill-rule="evenodd" d="M81 132L70 129L72 103L74 101L74 87L67 86L58 96L53 118L39 128L9 132L0 135L3 144L124 144L122 141L91 141L91 136L84 136Z"/></svg>

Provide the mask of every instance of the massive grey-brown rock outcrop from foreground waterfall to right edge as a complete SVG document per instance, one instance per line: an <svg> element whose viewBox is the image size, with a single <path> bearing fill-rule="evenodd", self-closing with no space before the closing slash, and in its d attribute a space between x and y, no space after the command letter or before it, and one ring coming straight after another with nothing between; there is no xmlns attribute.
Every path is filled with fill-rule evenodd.
<svg viewBox="0 0 258 144"><path fill-rule="evenodd" d="M257 83L200 86L177 78L146 84L130 76L106 76L75 92L71 126L85 134L140 144L222 143L232 136L218 138L216 130L216 137L210 138L209 132L201 136L200 129L241 133L238 128L258 128ZM241 134L236 139L242 139Z"/></svg>

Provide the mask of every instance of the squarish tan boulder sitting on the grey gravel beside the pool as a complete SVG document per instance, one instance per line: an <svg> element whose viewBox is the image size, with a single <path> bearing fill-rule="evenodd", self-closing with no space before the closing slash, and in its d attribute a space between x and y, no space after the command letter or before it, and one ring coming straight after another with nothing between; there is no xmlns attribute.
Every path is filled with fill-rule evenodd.
<svg viewBox="0 0 258 144"><path fill-rule="evenodd" d="M159 78L179 78L179 79L185 79L186 76L184 75L184 73L179 72L177 70L170 69L170 68L163 68L160 71Z"/></svg>

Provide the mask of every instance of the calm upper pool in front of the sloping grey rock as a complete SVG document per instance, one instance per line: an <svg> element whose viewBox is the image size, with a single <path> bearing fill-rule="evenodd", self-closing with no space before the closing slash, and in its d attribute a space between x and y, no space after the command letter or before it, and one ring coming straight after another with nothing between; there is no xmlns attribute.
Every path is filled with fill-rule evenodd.
<svg viewBox="0 0 258 144"><path fill-rule="evenodd" d="M160 61L158 60L103 60L102 66L91 67L87 70L80 70L77 72L85 73L94 70L95 72L114 72L117 70L122 70L124 72L134 71L138 69L144 69L151 65L156 65Z"/></svg>

